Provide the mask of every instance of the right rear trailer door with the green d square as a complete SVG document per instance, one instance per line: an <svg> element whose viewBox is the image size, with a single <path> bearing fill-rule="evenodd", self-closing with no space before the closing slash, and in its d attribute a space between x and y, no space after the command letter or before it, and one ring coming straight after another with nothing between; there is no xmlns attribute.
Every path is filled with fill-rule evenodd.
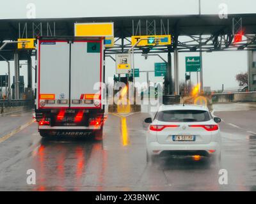
<svg viewBox="0 0 256 204"><path fill-rule="evenodd" d="M70 107L100 109L102 41L74 41L71 45ZM79 103L77 103L79 101Z"/></svg>

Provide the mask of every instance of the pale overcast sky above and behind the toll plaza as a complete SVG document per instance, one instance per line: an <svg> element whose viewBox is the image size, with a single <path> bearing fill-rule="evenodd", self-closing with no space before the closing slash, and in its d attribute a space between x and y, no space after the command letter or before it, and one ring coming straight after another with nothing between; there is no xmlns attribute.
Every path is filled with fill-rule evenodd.
<svg viewBox="0 0 256 204"><path fill-rule="evenodd" d="M198 0L2 0L0 19L27 18L31 3L35 5L36 18L67 18L67 17L115 17L133 15L189 15L198 14ZM255 0L201 0L202 14L218 14L220 4L227 4L228 13L256 13ZM30 7L31 8L31 7ZM179 55L179 78L184 80L185 56L198 53L182 53ZM163 55L167 59L167 54ZM173 56L172 56L173 57ZM157 57L148 57L147 60L136 55L135 64L141 70L154 70L154 62L161 62ZM113 77L115 63L111 59L106 61L106 75ZM247 52L213 52L203 54L204 86L212 89L238 87L235 75L247 70ZM13 62L11 63L13 74ZM0 62L0 75L7 72L6 62ZM26 66L20 69L26 81ZM161 81L161 78L150 75L152 81ZM138 80L145 81L146 75L141 74ZM192 78L196 83L195 74Z"/></svg>

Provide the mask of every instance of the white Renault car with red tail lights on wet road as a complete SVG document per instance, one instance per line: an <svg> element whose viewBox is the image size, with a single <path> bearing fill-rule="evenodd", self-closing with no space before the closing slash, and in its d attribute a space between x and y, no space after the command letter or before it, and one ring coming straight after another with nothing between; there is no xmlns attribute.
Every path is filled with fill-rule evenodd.
<svg viewBox="0 0 256 204"><path fill-rule="evenodd" d="M147 161L156 156L191 156L195 160L221 158L218 122L208 108L198 105L163 105L159 107L147 133Z"/></svg>

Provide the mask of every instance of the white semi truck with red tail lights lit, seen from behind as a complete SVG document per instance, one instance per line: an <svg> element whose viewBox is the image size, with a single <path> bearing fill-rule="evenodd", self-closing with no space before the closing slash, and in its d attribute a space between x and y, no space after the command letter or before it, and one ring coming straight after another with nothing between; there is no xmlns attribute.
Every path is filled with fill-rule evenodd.
<svg viewBox="0 0 256 204"><path fill-rule="evenodd" d="M42 137L102 139L103 38L39 37L35 80L35 119Z"/></svg>

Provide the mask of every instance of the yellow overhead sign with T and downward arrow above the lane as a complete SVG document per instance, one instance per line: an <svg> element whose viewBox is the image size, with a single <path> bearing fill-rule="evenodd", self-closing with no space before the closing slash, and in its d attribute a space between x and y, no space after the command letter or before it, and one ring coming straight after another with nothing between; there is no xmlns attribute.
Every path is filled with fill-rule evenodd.
<svg viewBox="0 0 256 204"><path fill-rule="evenodd" d="M135 45L140 39L137 46L153 46L153 45L171 45L172 38L170 34L156 35L156 36L132 36L132 46Z"/></svg>

